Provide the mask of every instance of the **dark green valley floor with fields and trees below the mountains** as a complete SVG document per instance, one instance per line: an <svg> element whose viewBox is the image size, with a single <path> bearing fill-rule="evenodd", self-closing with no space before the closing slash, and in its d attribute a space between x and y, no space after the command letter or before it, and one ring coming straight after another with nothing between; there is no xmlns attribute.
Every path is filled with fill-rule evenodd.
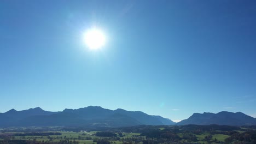
<svg viewBox="0 0 256 144"><path fill-rule="evenodd" d="M105 130L82 128L5 128L0 129L0 144L5 143L255 143L255 127L220 125L150 126L141 125Z"/></svg>

